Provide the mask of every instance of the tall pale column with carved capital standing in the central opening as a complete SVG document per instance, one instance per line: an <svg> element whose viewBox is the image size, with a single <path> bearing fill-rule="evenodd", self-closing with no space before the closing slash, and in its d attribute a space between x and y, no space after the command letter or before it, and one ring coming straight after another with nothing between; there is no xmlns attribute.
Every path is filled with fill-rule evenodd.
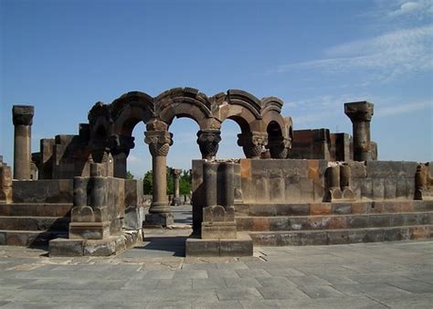
<svg viewBox="0 0 433 309"><path fill-rule="evenodd" d="M144 142L152 154L153 201L145 223L148 226L167 226L174 223L167 200L167 154L173 144L173 134L167 131L148 131Z"/></svg>

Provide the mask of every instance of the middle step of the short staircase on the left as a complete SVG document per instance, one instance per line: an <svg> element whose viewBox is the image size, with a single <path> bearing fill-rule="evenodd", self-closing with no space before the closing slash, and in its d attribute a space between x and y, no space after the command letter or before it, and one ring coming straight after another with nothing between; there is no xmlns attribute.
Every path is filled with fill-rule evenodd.
<svg viewBox="0 0 433 309"><path fill-rule="evenodd" d="M0 216L0 229L8 230L68 230L69 217Z"/></svg>

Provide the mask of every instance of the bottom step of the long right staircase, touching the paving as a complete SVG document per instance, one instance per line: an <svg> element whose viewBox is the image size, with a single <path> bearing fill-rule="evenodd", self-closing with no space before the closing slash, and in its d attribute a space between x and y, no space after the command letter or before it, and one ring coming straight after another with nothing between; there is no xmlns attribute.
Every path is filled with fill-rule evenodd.
<svg viewBox="0 0 433 309"><path fill-rule="evenodd" d="M257 246L337 245L377 241L428 240L433 238L433 225L369 229L251 231L248 234L253 244Z"/></svg>

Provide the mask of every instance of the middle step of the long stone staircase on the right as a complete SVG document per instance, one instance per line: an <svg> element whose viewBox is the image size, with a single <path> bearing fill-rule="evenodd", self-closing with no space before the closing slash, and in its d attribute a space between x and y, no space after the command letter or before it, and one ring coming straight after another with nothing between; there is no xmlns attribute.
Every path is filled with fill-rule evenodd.
<svg viewBox="0 0 433 309"><path fill-rule="evenodd" d="M433 211L364 215L236 217L238 230L366 229L433 224Z"/></svg>

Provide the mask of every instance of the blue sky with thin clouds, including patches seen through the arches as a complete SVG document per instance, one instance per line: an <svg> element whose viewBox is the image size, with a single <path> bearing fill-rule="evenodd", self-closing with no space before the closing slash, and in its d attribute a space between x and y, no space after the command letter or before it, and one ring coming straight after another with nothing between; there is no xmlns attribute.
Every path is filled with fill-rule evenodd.
<svg viewBox="0 0 433 309"><path fill-rule="evenodd" d="M0 154L13 163L13 104L33 104L38 140L78 133L96 101L194 87L277 96L294 128L352 133L343 102L372 101L381 160L433 159L433 1L0 0ZM144 125L128 164L143 176ZM197 125L170 127L168 165L200 156ZM222 127L218 157L242 156Z"/></svg>

